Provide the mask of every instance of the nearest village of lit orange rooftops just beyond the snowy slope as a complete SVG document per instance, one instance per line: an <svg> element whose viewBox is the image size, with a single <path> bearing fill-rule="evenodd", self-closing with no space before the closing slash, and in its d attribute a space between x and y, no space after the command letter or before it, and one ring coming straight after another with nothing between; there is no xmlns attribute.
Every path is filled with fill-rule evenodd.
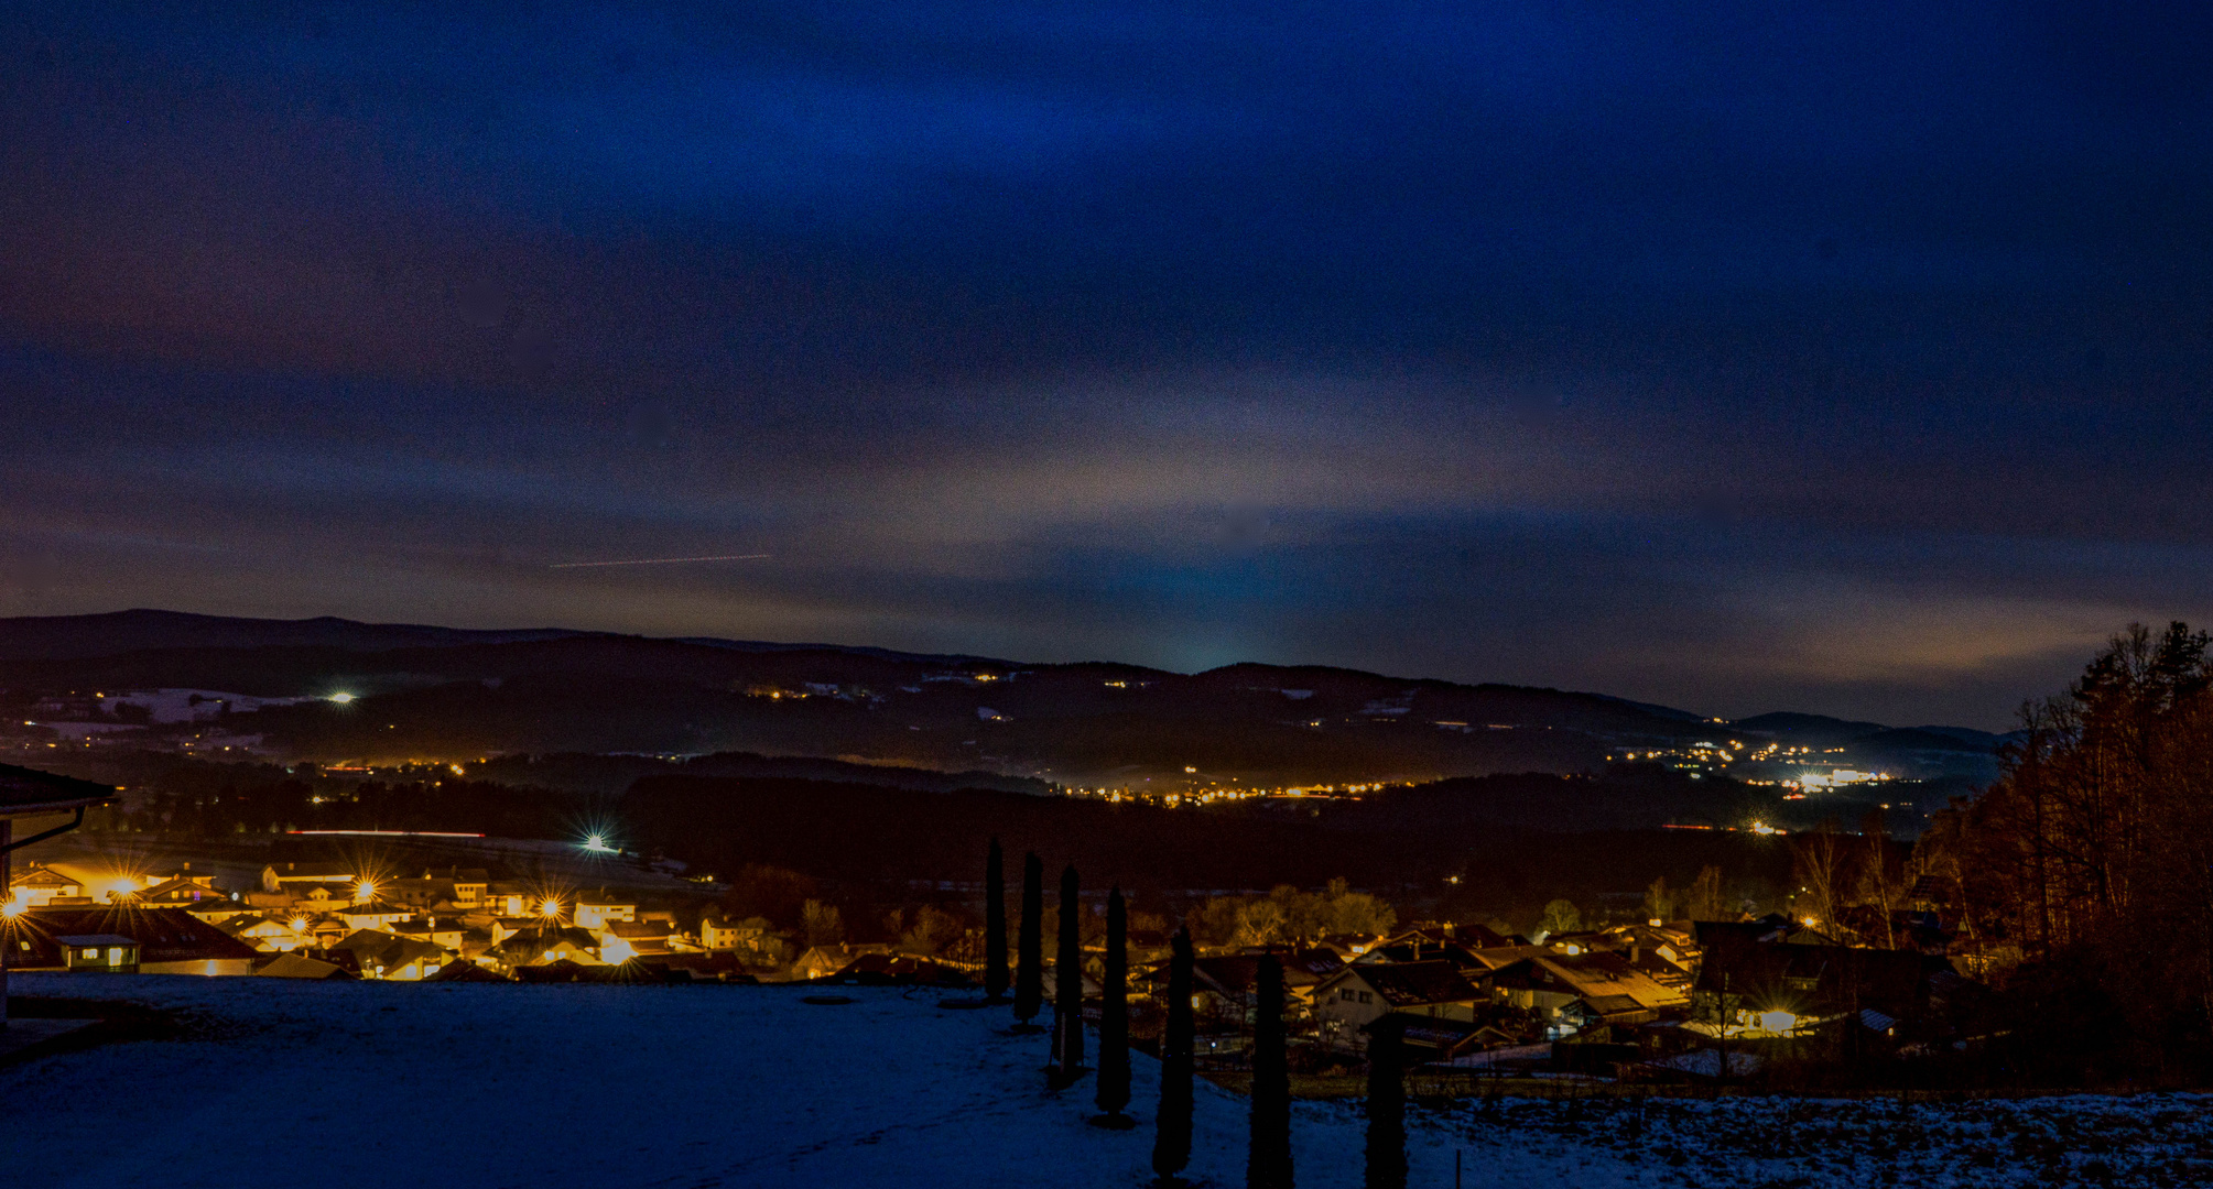
<svg viewBox="0 0 2213 1189"><path fill-rule="evenodd" d="M969 893L983 886L965 888ZM954 895L960 895L958 891ZM1932 1059L1992 1030L1987 990L1943 955L1939 906L1899 911L1908 948L1859 948L1801 919L1649 917L1600 928L1509 933L1503 922L1412 922L1346 888L1217 897L1191 968L1195 1059L1235 1072L1255 1034L1266 957L1284 972L1292 1065L1357 1070L1381 1019L1405 1061L1438 1074L1578 1074L1726 1083L1872 1059ZM1078 926L1084 1014L1102 1014L1106 930L1084 897ZM958 906L954 906L958 908ZM841 939L837 908L808 902L801 930L733 919L713 895L558 888L500 869L394 875L347 864L268 864L226 886L193 864L153 875L20 866L0 919L7 968L80 975L197 975L522 983L903 983L947 992L985 979L987 906L923 908L894 941ZM1206 917L1222 917L1204 928ZM1060 928L1058 908L1038 922ZM1381 930L1332 930L1346 922ZM1005 926L1002 926L1005 928ZM1157 1048L1171 937L1157 915L1124 933L1129 1034ZM1042 981L1058 970L1045 964Z"/></svg>

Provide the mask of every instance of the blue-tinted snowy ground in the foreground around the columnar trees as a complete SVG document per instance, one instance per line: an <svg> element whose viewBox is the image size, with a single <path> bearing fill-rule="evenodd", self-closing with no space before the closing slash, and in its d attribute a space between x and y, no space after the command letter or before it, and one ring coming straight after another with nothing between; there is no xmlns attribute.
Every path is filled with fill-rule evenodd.
<svg viewBox="0 0 2213 1189"><path fill-rule="evenodd" d="M0 1070L9 1182L261 1187L1137 1187L1135 1132L1047 1094L1042 1037L934 992L18 975L15 995L186 1008L199 1039ZM1414 1187L2206 1185L2213 1101L1505 1101L1414 1112ZM1202 1083L1191 1178L1244 1185L1244 1101ZM1359 1103L1301 1103L1303 1187L1361 1182Z"/></svg>

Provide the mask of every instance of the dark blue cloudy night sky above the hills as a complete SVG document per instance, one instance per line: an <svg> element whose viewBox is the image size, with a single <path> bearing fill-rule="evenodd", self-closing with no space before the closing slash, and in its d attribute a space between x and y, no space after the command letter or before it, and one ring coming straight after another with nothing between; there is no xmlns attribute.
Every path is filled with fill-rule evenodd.
<svg viewBox="0 0 2213 1189"><path fill-rule="evenodd" d="M695 9L11 4L0 614L1981 727L2213 619L2209 7Z"/></svg>

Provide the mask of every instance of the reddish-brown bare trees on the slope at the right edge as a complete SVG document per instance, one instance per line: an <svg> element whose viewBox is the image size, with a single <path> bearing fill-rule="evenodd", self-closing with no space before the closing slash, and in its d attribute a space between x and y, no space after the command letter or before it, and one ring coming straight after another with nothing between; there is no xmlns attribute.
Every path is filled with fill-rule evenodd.
<svg viewBox="0 0 2213 1189"><path fill-rule="evenodd" d="M2054 1072L2213 1074L2209 643L2186 623L2113 636L1919 846L2016 992L2023 1059Z"/></svg>

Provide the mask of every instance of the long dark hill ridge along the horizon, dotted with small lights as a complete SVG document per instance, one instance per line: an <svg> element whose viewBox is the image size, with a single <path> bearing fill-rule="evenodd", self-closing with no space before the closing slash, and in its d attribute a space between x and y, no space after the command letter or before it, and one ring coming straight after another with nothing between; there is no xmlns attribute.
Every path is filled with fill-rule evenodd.
<svg viewBox="0 0 2213 1189"><path fill-rule="evenodd" d="M1695 743L1717 729L1691 712L1607 694L1326 665L1177 674L848 645L162 610L0 619L0 687L15 720L113 714L84 701L53 703L95 690L297 698L162 729L259 736L266 751L321 760L750 751L1155 789L1596 771L1624 747ZM345 701L328 701L334 694ZM33 714L38 705L53 709ZM1868 740L1897 756L1974 749L1941 729L1810 714L1731 727L1821 747Z"/></svg>

